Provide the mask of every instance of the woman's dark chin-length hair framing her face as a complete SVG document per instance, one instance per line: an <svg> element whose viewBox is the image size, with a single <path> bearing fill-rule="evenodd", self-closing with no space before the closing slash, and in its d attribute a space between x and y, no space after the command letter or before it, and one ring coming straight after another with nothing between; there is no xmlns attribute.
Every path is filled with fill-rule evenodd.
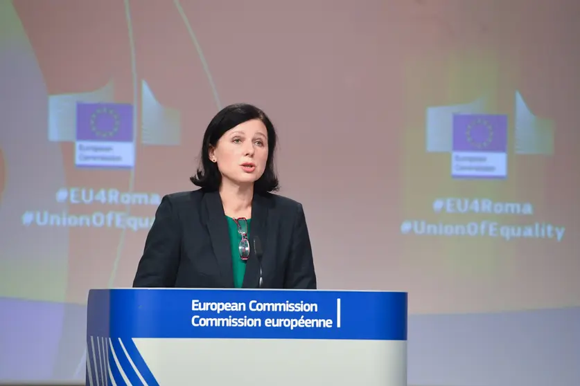
<svg viewBox="0 0 580 386"><path fill-rule="evenodd" d="M210 147L216 147L218 140L222 138L226 131L240 125L240 123L253 119L259 119L263 122L268 135L266 167L262 176L254 183L254 192L266 193L279 190L278 177L274 171L276 130L266 113L258 109L258 107L247 103L230 104L220 110L211 122L209 122L202 143L202 151L200 154L201 165L195 175L189 178L192 183L210 191L219 189L222 183L222 174L218 169L218 165L209 160L209 149Z"/></svg>

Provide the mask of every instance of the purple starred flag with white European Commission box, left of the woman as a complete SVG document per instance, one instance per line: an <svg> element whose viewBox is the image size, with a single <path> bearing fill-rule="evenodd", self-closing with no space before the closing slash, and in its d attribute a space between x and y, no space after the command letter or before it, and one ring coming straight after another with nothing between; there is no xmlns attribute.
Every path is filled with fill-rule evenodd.
<svg viewBox="0 0 580 386"><path fill-rule="evenodd" d="M134 167L134 122L131 104L78 103L76 165Z"/></svg>

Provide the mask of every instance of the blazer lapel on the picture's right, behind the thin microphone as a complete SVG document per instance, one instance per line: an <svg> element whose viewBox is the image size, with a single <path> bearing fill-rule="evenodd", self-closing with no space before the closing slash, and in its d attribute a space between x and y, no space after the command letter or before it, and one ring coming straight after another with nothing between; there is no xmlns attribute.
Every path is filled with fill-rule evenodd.
<svg viewBox="0 0 580 386"><path fill-rule="evenodd" d="M244 275L242 288L258 288L260 280L260 263L256 256L256 251L254 250L254 238L259 237L262 252L264 253L267 243L267 217L268 208L265 197L259 194L254 194L254 200L252 201L252 222L250 223L248 235L249 259L247 259L246 263L246 273ZM264 257L264 255L262 255L262 257ZM262 277L264 276L265 273L262 272Z"/></svg>

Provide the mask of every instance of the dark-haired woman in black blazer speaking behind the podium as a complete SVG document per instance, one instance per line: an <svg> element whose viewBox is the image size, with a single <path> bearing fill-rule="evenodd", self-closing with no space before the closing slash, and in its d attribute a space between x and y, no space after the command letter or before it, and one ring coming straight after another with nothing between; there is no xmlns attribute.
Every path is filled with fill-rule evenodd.
<svg viewBox="0 0 580 386"><path fill-rule="evenodd" d="M163 197L133 287L316 289L300 203L272 194L276 131L251 104L209 123L200 187Z"/></svg>

